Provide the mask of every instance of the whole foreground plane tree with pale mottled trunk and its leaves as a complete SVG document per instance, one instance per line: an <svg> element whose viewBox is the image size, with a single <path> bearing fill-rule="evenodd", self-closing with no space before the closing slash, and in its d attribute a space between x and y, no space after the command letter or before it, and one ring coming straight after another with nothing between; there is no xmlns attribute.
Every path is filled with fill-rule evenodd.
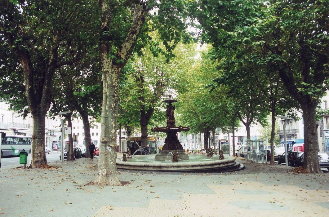
<svg viewBox="0 0 329 217"><path fill-rule="evenodd" d="M98 3L101 10L99 52L103 82L101 155L98 176L90 184L120 185L115 152L120 74L133 51L140 51L151 41L148 32L154 29L159 32L170 56L170 51L181 38L187 38L187 17L184 13L189 1L100 0ZM154 12L150 13L153 9Z"/></svg>

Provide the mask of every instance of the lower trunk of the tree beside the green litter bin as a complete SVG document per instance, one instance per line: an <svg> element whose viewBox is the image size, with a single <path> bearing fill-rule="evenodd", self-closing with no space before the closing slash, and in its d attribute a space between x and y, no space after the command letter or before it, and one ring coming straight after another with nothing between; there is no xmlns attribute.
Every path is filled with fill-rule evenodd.
<svg viewBox="0 0 329 217"><path fill-rule="evenodd" d="M31 145L31 158L28 168L38 168L40 165L47 164L47 158L44 150L46 114L37 112L32 113L33 135Z"/></svg>

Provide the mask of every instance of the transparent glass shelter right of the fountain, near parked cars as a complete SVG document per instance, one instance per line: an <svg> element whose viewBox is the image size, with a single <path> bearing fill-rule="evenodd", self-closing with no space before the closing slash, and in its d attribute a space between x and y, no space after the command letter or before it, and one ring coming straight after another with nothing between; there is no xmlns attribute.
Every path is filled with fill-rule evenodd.
<svg viewBox="0 0 329 217"><path fill-rule="evenodd" d="M266 142L264 140L249 140L245 141L246 153L245 159L256 161L257 163L266 163Z"/></svg>

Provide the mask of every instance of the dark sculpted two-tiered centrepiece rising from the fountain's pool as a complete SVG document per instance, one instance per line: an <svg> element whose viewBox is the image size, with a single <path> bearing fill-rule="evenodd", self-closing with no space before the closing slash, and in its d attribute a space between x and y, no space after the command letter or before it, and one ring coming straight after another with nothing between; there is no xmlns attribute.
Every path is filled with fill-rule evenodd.
<svg viewBox="0 0 329 217"><path fill-rule="evenodd" d="M189 159L189 155L185 154L185 150L177 138L177 133L181 131L189 131L190 127L176 127L175 125L175 107L172 104L177 102L177 100L171 99L171 95L169 94L169 99L164 100L163 102L169 104L166 106L167 109L165 111L165 116L167 117L167 126L156 126L152 128L151 131L167 133L167 137L164 140L162 150L159 150L159 154L155 156L155 160L165 160L168 156L168 153L173 151L179 153L179 159L187 160Z"/></svg>

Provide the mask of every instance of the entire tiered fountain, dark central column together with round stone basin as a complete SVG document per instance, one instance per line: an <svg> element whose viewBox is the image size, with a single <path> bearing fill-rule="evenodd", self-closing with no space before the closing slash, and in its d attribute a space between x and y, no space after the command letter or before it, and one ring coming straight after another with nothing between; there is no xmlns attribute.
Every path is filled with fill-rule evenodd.
<svg viewBox="0 0 329 217"><path fill-rule="evenodd" d="M125 153L124 159L117 158L116 167L118 169L128 170L145 170L145 171L167 171L167 172L229 172L244 169L239 162L235 162L235 157L225 156L221 152L220 159L218 156L207 156L192 154L187 155L183 150L182 144L177 138L177 133L189 131L189 127L175 126L175 107L172 105L177 100L170 99L163 102L168 103L165 116L167 117L166 127L155 127L153 132L167 133L165 143L157 155L135 155L129 156ZM172 155L172 161L167 157ZM175 157L174 157L175 156ZM179 156L179 157L178 157ZM126 160L126 161L125 161Z"/></svg>

